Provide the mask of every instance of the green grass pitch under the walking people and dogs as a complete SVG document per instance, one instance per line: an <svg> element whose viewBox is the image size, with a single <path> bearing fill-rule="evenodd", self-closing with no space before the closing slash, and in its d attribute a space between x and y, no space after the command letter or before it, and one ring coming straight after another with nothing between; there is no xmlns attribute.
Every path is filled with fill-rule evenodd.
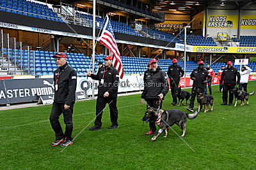
<svg viewBox="0 0 256 170"><path fill-rule="evenodd" d="M240 106L240 101L236 108L234 103L221 106L218 89L212 86L213 111L201 111L186 124L183 139L195 152L171 129L167 138L161 134L150 142L152 136L145 136L148 124L143 127L141 122L146 105L140 95L118 97L119 127L111 130L109 108L102 130L89 131L93 123L84 129L95 117L96 101L77 102L73 137L84 131L63 152L51 146L51 105L0 111L0 169L256 169L256 95L249 97L249 106ZM250 81L248 92L255 89L256 81ZM185 106L172 106L170 98L169 92L163 109L186 111ZM65 127L62 115L60 122ZM172 128L182 134L177 125Z"/></svg>

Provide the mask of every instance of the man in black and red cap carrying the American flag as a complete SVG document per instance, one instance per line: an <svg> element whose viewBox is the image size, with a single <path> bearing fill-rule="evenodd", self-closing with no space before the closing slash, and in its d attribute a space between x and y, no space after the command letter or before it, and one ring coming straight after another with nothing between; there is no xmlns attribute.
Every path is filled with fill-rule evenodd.
<svg viewBox="0 0 256 170"><path fill-rule="evenodd" d="M106 57L104 57L104 62L105 66L100 67L97 74L92 74L90 71L87 72L87 75L93 80L99 80L98 97L96 103L96 119L94 126L89 128L90 131L101 129L102 113L107 103L109 104L110 119L112 123L109 129L115 129L118 127L118 110L116 108L116 100L119 74L116 68L112 66L112 57L110 55L106 55Z"/></svg>

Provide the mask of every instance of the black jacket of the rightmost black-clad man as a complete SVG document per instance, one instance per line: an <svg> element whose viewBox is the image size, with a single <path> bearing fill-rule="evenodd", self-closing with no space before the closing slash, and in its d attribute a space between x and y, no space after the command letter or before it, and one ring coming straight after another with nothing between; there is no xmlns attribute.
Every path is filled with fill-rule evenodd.
<svg viewBox="0 0 256 170"><path fill-rule="evenodd" d="M231 66L230 69L227 67L223 69L221 74L220 82L223 82L225 85L236 85L236 76L237 76L237 83L240 83L240 73L236 69L236 67Z"/></svg>

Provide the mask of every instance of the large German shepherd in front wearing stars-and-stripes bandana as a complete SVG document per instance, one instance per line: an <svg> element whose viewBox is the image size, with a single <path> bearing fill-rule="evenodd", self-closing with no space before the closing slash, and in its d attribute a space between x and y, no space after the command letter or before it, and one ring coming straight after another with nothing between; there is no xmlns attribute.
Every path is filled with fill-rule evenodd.
<svg viewBox="0 0 256 170"><path fill-rule="evenodd" d="M148 109L145 112L144 117L141 119L142 121L146 122L156 122L156 124L159 126L159 131L157 134L150 139L150 141L155 141L156 138L161 134L161 132L164 131L163 138L167 137L168 129L173 124L179 125L180 129L182 129L183 133L180 137L185 136L186 133L186 122L187 118L193 119L196 118L198 114L198 111L195 111L194 113L188 114L180 110L159 110L151 108Z"/></svg>

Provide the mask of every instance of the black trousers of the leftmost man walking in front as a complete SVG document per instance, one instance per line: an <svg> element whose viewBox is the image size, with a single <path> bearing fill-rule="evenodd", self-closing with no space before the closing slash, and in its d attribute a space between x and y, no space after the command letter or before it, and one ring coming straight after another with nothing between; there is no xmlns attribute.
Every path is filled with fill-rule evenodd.
<svg viewBox="0 0 256 170"><path fill-rule="evenodd" d="M73 115L73 108L74 103L70 104L70 108L68 110L64 109L64 103L53 103L52 110L50 115L50 122L52 125L52 129L55 132L56 139L67 139L72 140L72 131L73 131L73 122L72 122L72 115ZM63 113L64 123L66 125L65 134L61 129L60 125L60 115Z"/></svg>

